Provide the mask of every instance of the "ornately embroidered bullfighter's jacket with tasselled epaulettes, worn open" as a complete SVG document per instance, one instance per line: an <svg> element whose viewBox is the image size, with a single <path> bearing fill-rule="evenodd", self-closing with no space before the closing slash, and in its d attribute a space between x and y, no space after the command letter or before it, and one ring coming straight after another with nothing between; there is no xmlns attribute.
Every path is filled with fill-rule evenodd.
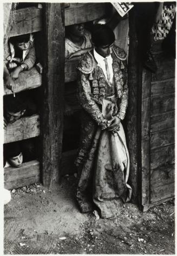
<svg viewBox="0 0 177 256"><path fill-rule="evenodd" d="M126 53L123 49L114 46L112 58L118 106L116 116L123 120L128 104ZM105 86L107 86L103 71L97 66L97 62L91 52L82 56L77 68L79 71L78 99L80 104L96 121L97 125L101 126L102 130L106 129L109 126L109 121L103 117L101 112Z"/></svg>

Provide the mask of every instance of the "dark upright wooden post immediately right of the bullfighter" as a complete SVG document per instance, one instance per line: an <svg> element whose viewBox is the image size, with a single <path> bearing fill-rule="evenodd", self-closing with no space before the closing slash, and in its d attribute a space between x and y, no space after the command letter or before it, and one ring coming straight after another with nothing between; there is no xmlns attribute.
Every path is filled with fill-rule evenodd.
<svg viewBox="0 0 177 256"><path fill-rule="evenodd" d="M137 57L137 37L135 29L135 15L132 9L129 12L129 55L128 55L128 88L129 99L126 114L127 146L130 156L129 182L133 189L132 202L138 198L138 87L139 61Z"/></svg>

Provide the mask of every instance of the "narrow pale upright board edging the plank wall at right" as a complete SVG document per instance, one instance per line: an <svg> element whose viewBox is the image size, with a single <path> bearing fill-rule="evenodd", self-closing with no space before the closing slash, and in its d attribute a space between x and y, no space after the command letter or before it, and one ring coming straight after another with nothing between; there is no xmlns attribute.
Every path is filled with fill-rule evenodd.
<svg viewBox="0 0 177 256"><path fill-rule="evenodd" d="M142 111L141 111L141 204L149 203L150 185L150 87L151 73L142 73Z"/></svg>

